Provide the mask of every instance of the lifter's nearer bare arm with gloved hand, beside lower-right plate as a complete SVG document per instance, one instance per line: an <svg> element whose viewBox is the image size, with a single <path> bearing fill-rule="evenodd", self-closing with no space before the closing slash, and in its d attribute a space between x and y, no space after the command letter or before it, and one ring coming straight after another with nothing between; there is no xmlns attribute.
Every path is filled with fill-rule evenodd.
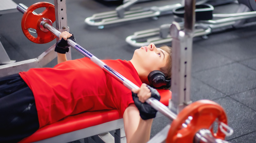
<svg viewBox="0 0 256 143"><path fill-rule="evenodd" d="M142 84L136 90L132 89L134 104L126 108L123 119L127 143L145 143L150 139L150 131L157 110L145 103L149 97L160 100L156 89ZM132 123L132 124L131 124Z"/></svg>

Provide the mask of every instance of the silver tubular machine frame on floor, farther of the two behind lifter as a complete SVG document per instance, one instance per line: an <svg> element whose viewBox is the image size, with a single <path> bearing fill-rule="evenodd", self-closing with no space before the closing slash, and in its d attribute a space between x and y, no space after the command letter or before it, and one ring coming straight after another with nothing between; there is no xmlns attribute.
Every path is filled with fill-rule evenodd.
<svg viewBox="0 0 256 143"><path fill-rule="evenodd" d="M108 11L94 14L87 17L84 21L90 26L98 26L99 29L104 28L104 25L127 22L143 18L156 18L160 15L172 13L173 8L180 7L181 4L166 5L162 7L151 8L131 8L135 3L142 0L129 0L118 6L115 11Z"/></svg>

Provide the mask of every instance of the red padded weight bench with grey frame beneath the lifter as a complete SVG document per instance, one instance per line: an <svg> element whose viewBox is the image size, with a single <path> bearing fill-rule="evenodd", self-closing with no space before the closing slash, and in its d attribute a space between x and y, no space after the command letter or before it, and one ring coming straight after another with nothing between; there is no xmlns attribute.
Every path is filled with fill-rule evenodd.
<svg viewBox="0 0 256 143"><path fill-rule="evenodd" d="M158 91L161 95L160 102L167 106L169 99L171 99L171 91L164 89ZM122 129L123 126L122 115L120 115L118 110L83 112L46 125L19 143L71 142L112 130ZM120 137L118 133L115 133L115 142L121 142L121 138L124 138L126 142L125 135Z"/></svg>

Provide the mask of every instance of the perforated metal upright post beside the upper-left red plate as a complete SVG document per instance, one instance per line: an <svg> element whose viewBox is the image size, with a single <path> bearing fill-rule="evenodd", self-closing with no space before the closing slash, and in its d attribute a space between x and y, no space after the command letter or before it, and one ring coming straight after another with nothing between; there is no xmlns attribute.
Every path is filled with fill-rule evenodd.
<svg viewBox="0 0 256 143"><path fill-rule="evenodd" d="M69 31L66 0L54 0L54 7L56 29L59 30L60 32L63 32L65 30ZM56 40L59 39L56 38ZM66 53L66 56L68 60L71 60L71 47L69 47L69 52Z"/></svg>

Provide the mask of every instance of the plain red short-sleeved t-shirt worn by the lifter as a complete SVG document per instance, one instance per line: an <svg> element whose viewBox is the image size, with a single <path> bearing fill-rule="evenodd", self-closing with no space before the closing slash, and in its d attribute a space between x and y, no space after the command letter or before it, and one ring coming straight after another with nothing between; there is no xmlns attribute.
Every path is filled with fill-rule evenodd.
<svg viewBox="0 0 256 143"><path fill-rule="evenodd" d="M135 85L142 84L130 61L102 61ZM131 90L87 57L19 74L34 94L40 127L83 111L118 109L123 114L133 103Z"/></svg>

